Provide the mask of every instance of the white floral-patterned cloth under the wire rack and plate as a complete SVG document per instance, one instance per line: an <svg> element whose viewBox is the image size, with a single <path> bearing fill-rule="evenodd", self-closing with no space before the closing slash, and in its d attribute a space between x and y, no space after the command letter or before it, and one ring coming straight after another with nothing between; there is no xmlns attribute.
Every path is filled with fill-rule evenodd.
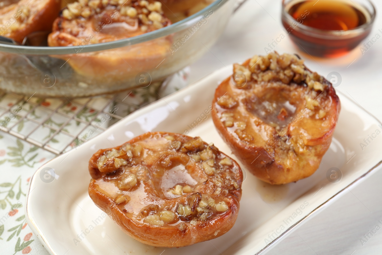
<svg viewBox="0 0 382 255"><path fill-rule="evenodd" d="M185 68L162 84L115 96L73 100L3 93L0 130L6 132L0 132L0 254L49 254L28 227L24 215L29 182L40 166L134 110L185 87L188 77L189 68Z"/></svg>

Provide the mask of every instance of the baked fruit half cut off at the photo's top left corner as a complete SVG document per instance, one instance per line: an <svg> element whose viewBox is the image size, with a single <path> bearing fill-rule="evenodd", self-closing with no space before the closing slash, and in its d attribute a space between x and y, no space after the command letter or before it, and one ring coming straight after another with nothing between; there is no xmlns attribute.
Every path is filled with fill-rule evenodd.
<svg viewBox="0 0 382 255"><path fill-rule="evenodd" d="M0 36L22 43L28 34L51 31L60 0L5 0L0 2Z"/></svg>

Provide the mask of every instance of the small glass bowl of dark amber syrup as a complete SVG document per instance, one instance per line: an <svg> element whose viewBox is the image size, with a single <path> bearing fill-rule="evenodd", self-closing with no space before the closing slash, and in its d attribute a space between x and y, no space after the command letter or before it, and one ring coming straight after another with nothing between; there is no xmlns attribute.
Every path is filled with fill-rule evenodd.
<svg viewBox="0 0 382 255"><path fill-rule="evenodd" d="M375 17L369 0L283 0L282 23L291 40L319 57L353 50L370 34Z"/></svg>

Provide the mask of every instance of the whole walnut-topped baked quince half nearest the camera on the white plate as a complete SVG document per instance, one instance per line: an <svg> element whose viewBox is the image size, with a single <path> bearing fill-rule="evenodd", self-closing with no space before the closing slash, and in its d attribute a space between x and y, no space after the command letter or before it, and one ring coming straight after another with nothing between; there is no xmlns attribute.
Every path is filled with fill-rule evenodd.
<svg viewBox="0 0 382 255"><path fill-rule="evenodd" d="M182 247L231 229L241 198L240 166L199 137L154 132L89 161L89 195L129 236Z"/></svg>

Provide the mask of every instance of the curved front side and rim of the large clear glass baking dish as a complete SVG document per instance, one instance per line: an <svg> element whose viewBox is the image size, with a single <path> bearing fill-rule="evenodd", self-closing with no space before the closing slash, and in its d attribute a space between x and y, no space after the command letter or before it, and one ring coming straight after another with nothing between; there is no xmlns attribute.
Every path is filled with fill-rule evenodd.
<svg viewBox="0 0 382 255"><path fill-rule="evenodd" d="M68 47L0 44L0 89L85 97L160 83L217 41L234 0L216 0L171 26L113 42Z"/></svg>

